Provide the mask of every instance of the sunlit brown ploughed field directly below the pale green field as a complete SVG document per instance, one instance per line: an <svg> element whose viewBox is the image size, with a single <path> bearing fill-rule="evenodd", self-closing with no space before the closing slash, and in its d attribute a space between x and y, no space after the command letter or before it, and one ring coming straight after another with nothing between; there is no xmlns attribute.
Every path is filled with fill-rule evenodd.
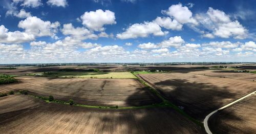
<svg viewBox="0 0 256 134"><path fill-rule="evenodd" d="M137 79L86 79L16 77L19 83L0 85L0 93L28 90L29 94L78 104L108 106L139 106L161 102Z"/></svg>

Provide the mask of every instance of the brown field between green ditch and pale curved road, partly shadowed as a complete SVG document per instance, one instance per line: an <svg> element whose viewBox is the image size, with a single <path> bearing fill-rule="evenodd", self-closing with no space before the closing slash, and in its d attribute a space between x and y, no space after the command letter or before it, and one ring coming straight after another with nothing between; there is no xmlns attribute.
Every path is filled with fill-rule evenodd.
<svg viewBox="0 0 256 134"><path fill-rule="evenodd" d="M161 73L139 75L166 98L203 120L211 111L256 90L256 82L196 75Z"/></svg>

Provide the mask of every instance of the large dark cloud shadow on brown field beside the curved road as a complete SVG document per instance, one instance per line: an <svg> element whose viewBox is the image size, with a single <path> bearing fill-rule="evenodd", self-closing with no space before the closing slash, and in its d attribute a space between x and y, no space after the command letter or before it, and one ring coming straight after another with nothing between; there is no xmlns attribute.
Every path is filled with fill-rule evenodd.
<svg viewBox="0 0 256 134"><path fill-rule="evenodd" d="M224 99L236 98L239 93L230 93L228 87L210 83L190 82L184 79L172 79L154 83L158 91L195 119L203 120L224 104ZM162 90L160 90L162 89Z"/></svg>

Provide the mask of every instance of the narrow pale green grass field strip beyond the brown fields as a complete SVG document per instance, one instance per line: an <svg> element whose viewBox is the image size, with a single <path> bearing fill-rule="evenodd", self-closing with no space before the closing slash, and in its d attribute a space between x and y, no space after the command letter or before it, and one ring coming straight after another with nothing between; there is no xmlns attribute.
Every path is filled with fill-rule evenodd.
<svg viewBox="0 0 256 134"><path fill-rule="evenodd" d="M41 75L46 77L67 77L67 78L136 78L130 72L46 72L31 75Z"/></svg>

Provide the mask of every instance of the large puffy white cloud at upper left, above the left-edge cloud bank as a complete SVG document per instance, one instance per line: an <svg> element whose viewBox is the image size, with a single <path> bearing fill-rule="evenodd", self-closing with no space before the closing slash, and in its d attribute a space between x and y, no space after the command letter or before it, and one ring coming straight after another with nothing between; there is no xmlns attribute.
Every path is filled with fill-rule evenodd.
<svg viewBox="0 0 256 134"><path fill-rule="evenodd" d="M57 32L59 22L51 23L50 21L44 21L36 16L30 16L25 20L19 21L18 27L25 29L25 33L33 34L34 36L54 36Z"/></svg>

